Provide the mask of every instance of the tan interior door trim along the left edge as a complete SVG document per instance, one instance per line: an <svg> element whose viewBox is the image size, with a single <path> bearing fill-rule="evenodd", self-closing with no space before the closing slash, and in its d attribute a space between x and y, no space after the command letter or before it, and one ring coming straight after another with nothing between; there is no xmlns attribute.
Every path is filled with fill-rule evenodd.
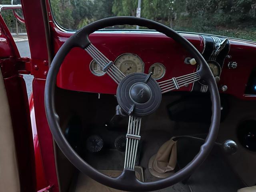
<svg viewBox="0 0 256 192"><path fill-rule="evenodd" d="M0 71L0 189L20 192L20 180L10 108Z"/></svg>

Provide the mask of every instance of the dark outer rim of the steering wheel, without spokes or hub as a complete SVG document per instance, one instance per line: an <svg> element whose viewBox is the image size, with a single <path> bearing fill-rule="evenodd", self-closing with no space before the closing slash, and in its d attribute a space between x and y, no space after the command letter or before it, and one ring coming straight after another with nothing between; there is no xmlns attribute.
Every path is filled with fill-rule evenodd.
<svg viewBox="0 0 256 192"><path fill-rule="evenodd" d="M140 182L135 178L134 170L124 169L122 174L117 178L110 178L98 170L90 166L87 162L85 162L70 146L68 141L66 140L59 124L59 116L55 110L54 103L54 93L56 86L56 78L60 66L68 54L68 52L74 47L80 47L85 49L89 44L90 40L88 38L89 34L95 32L96 30L114 26L114 25L138 25L144 26L150 29L157 30L165 34L166 36L173 38L176 42L182 44L186 50L196 59L197 63L200 65L200 69L198 74L201 79L205 80L208 83L211 101L212 101L212 119L211 125L209 128L208 136L204 142L204 144L200 148L200 152L194 157L194 159L186 165L186 167L182 168L174 175L154 181L154 182ZM218 128L220 124L220 97L218 93L218 88L210 71L210 68L202 55L198 52L198 50L186 40L183 36L160 24L158 22L154 22L152 20L144 19L144 18L136 18L136 17L112 17L106 18L102 20L98 20L87 26L84 26L80 30L78 30L74 35L72 35L58 50L56 56L54 57L52 64L49 68L48 75L46 78L45 85L45 93L44 93L44 102L45 102L45 110L46 117L48 120L48 124L50 126L50 130L54 137L54 140L58 144L60 150L64 153L64 155L68 158L68 160L78 168L81 172L87 174L92 179L104 184L106 186L110 186L112 188L116 188L119 190L127 190L127 191L152 191L159 190L162 188L166 188L177 182L184 180L186 177L191 175L194 170L204 162L210 150L212 149L214 142L217 138Z"/></svg>

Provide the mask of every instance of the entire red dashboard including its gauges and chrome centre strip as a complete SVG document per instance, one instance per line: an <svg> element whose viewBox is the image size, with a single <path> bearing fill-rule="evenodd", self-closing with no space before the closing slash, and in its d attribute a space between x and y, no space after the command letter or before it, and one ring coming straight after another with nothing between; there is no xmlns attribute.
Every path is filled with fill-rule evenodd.
<svg viewBox="0 0 256 192"><path fill-rule="evenodd" d="M256 43L210 35L182 35L208 62L220 93L225 92L242 99L256 99L256 63L253 58ZM55 36L60 40L55 45L57 51L68 36L62 32ZM197 64L188 63L191 55L164 34L96 32L89 38L125 75L152 72L152 77L157 82L162 82L198 70ZM58 74L57 86L67 90L103 94L116 94L117 88L117 84L80 48L73 48L66 56ZM208 92L208 86L199 81L178 91Z"/></svg>

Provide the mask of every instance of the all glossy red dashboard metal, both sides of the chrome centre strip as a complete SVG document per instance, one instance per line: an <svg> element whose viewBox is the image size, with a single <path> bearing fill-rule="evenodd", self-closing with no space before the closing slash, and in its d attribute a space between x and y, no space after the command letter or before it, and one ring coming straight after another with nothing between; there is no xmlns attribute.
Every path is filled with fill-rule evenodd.
<svg viewBox="0 0 256 192"><path fill-rule="evenodd" d="M54 51L58 51L60 46L69 38L72 33L61 32L52 25L54 37ZM204 40L197 35L184 35L198 50L203 52ZM89 36L90 41L109 60L114 61L124 53L133 53L140 56L145 64L144 72L152 64L160 62L166 67L165 76L158 80L164 81L172 77L190 74L196 71L196 66L184 64L184 59L190 54L171 38L158 33L133 33L133 32L96 32ZM226 58L218 87L226 85L227 94L234 95L241 99L253 100L256 97L244 94L250 73L256 67L254 54L256 43L242 40L230 39L231 58ZM116 94L117 84L107 75L95 76L89 68L92 58L85 50L73 48L65 58L57 78L57 86L67 90ZM229 69L228 62L237 62L236 69ZM182 87L179 91L191 91L192 84ZM220 89L220 92L221 89Z"/></svg>

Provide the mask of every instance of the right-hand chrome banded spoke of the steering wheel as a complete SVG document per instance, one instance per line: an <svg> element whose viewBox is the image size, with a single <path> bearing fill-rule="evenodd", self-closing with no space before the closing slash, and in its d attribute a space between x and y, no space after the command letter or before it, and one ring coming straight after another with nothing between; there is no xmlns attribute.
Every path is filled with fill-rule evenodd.
<svg viewBox="0 0 256 192"><path fill-rule="evenodd" d="M183 75L176 78L173 77L169 80L159 82L158 85L160 86L163 94L174 89L179 89L183 86L188 86L188 84L194 83L198 80L200 80L200 75L198 74L198 72L194 72L191 74Z"/></svg>

